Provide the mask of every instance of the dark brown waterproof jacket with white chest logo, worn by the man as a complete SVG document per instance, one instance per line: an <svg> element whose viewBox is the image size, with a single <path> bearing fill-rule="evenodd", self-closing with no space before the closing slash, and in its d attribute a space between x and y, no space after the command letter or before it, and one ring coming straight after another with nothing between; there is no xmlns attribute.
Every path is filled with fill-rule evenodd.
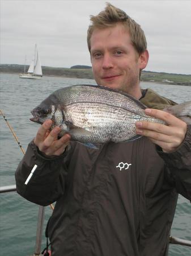
<svg viewBox="0 0 191 256"><path fill-rule="evenodd" d="M143 101L173 104L151 90ZM17 191L36 204L57 201L49 222L53 256L164 256L177 193L191 199L190 148L190 126L171 154L146 137L99 150L71 142L51 158L31 142L16 170Z"/></svg>

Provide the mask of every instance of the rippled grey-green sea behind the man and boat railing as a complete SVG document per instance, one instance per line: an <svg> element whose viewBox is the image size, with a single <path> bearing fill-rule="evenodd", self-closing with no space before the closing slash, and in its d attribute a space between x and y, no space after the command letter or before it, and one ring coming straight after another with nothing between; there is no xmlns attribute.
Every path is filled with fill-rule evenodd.
<svg viewBox="0 0 191 256"><path fill-rule="evenodd" d="M19 79L19 76L15 74L1 74L0 79L0 109L24 150L27 149L27 144L35 137L39 128L37 123L29 121L33 108L54 90L74 84L96 84L94 80L64 77L43 77L41 80ZM177 103L191 99L191 86L156 84L154 82L141 82L141 86L154 89L162 96ZM23 152L2 115L0 116L0 127L0 186L14 185L15 170L23 157ZM16 192L1 193L0 199L0 255L26 256L34 254L39 205L30 203ZM46 222L51 214L52 209L45 207L41 249L44 249L46 245L44 232ZM182 196L179 196L177 203L171 235L191 240L191 205L190 201ZM191 247L169 245L169 256L190 255Z"/></svg>

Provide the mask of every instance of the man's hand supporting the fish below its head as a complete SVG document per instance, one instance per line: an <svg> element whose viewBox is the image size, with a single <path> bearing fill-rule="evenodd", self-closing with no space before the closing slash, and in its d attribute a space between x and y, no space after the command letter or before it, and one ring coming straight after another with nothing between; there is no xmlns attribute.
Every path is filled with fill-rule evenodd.
<svg viewBox="0 0 191 256"><path fill-rule="evenodd" d="M60 139L58 139L58 134L60 133L60 127L54 127L50 131L52 121L47 119L43 125L37 131L34 143L39 150L46 155L61 155L65 150L65 147L69 144L70 135L65 134Z"/></svg>

